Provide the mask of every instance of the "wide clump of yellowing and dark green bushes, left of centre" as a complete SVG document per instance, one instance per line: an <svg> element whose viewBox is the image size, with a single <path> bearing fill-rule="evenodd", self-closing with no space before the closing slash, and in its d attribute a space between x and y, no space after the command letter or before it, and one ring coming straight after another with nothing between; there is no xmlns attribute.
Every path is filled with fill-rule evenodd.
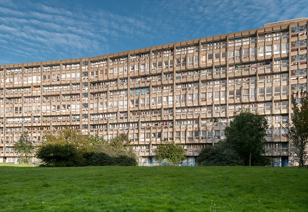
<svg viewBox="0 0 308 212"><path fill-rule="evenodd" d="M79 129L47 131L42 136L36 157L47 166L136 166L137 157L127 135L104 140L83 135Z"/></svg>

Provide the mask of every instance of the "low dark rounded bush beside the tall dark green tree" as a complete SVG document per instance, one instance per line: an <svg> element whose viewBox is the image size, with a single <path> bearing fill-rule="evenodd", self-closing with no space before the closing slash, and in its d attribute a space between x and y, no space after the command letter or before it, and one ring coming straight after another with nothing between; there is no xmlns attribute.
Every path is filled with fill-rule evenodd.
<svg viewBox="0 0 308 212"><path fill-rule="evenodd" d="M199 166L243 166L244 160L221 140L215 146L206 146L198 154L196 162Z"/></svg>

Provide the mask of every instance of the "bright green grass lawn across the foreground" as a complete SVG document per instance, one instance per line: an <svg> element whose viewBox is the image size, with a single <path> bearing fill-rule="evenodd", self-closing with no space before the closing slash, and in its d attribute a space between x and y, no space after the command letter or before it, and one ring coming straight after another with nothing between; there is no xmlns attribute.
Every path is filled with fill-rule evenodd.
<svg viewBox="0 0 308 212"><path fill-rule="evenodd" d="M1 166L0 211L307 211L296 167Z"/></svg>

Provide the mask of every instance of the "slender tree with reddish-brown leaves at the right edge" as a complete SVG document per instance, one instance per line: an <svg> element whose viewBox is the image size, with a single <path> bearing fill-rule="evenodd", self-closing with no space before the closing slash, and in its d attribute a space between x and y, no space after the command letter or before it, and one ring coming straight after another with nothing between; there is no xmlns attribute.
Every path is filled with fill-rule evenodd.
<svg viewBox="0 0 308 212"><path fill-rule="evenodd" d="M291 95L291 109L294 116L288 130L288 136L295 148L295 155L299 159L299 168L307 160L308 143L308 92L301 90Z"/></svg>

